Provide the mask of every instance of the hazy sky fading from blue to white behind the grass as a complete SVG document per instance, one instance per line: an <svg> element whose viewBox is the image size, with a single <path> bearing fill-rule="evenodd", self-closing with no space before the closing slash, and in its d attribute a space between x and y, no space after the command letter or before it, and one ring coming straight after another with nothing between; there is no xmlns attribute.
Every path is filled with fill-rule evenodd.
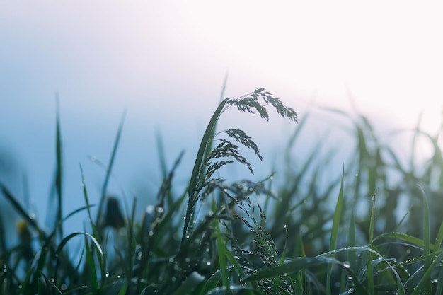
<svg viewBox="0 0 443 295"><path fill-rule="evenodd" d="M124 112L112 183L131 199L139 183L160 183L156 134L169 166L185 149L192 167L226 74L225 97L266 87L301 117L312 103L355 105L381 130L414 127L422 112L433 131L442 13L438 1L1 1L0 173L16 195L25 179L30 207L46 215L58 98L66 212L84 204L79 164L98 196L103 169L88 156L108 162ZM314 110L308 142L338 120ZM294 128L270 121L235 113L221 125L245 127L266 158Z"/></svg>

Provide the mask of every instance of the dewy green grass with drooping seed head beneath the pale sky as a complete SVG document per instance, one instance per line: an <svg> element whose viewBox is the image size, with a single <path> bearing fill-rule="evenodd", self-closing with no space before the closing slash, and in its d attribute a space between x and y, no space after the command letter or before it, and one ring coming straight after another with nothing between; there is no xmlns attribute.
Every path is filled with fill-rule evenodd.
<svg viewBox="0 0 443 295"><path fill-rule="evenodd" d="M107 190L124 117L98 206L90 202L80 166L85 206L62 212L57 115L54 228L44 231L0 180L0 195L22 219L19 243L8 248L9 224L0 215L0 294L442 294L442 129L429 134L418 122L414 130L401 131L413 135L410 161L403 163L364 115L328 110L350 120L347 131L355 142L350 164L340 169L328 164L333 151L321 156L321 142L306 158L294 158L304 144L306 115L287 138L280 173L228 183L220 176L223 166L241 163L253 173L239 146L262 159L243 130L217 132L217 122L232 108L265 120L273 108L298 121L264 88L220 100L181 192L173 189L173 179L183 153L168 170L158 136L163 183L139 220L135 199L124 214ZM415 145L422 139L433 153L417 163ZM410 209L397 218L393 211L404 203ZM74 214L84 214L88 226L64 233L64 221Z"/></svg>

